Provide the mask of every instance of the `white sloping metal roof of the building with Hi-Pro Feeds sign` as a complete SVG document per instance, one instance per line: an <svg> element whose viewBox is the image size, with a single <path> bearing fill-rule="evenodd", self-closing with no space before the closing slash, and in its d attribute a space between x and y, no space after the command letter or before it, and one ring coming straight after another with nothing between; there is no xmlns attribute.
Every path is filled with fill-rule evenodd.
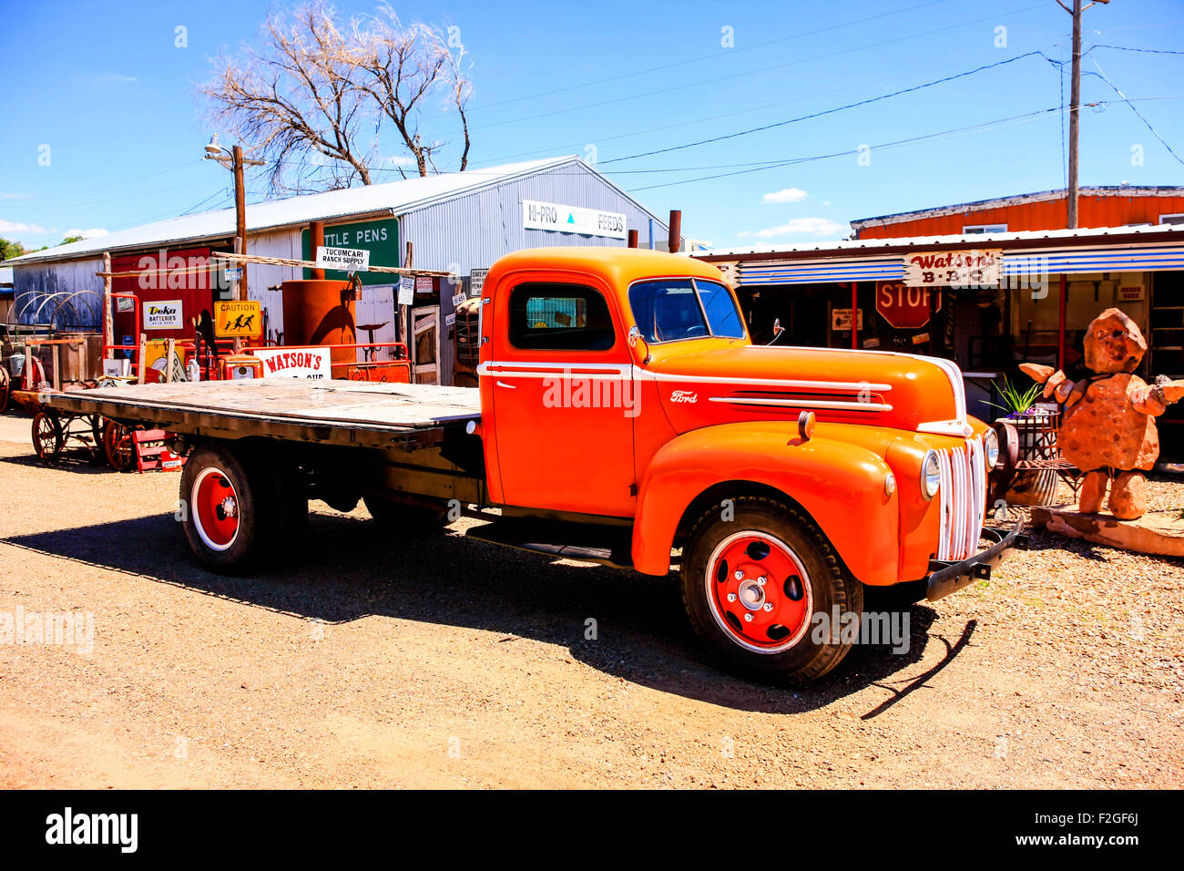
<svg viewBox="0 0 1184 871"><path fill-rule="evenodd" d="M258 232L275 228L308 224L311 220L332 220L334 218L361 216L401 216L418 211L438 203L446 201L474 191L506 181L530 175L561 166L580 166L588 173L601 178L612 185L578 155L547 158L521 164L504 164L483 169L425 175L382 185L365 185L341 191L327 191L288 199L269 200L249 204L246 207L247 232ZM616 187L616 185L612 185ZM617 188L619 190L619 188ZM622 193L628 197L628 194ZM631 198L630 198L631 199ZM76 260L82 256L94 256L103 251L121 251L141 249L148 245L163 245L178 242L198 242L218 239L234 235L234 210L220 209L212 212L198 212L178 218L157 220L152 224L118 230L96 236L69 245L58 245L44 251L13 257L9 264L44 263L50 261Z"/></svg>

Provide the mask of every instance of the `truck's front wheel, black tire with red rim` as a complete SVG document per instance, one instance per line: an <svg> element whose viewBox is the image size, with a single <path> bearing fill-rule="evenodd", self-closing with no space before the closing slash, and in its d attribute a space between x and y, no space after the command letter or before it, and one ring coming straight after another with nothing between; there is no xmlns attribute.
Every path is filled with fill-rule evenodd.
<svg viewBox="0 0 1184 871"><path fill-rule="evenodd" d="M800 510L765 497L713 506L691 527L682 596L695 632L731 671L774 683L822 677L847 655L839 615L862 615L863 587ZM822 630L819 630L822 629Z"/></svg>

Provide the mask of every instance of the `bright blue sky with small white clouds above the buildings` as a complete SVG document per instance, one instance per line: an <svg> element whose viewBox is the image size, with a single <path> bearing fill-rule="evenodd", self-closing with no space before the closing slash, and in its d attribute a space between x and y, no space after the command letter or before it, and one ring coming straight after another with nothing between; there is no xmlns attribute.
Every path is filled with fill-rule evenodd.
<svg viewBox="0 0 1184 871"><path fill-rule="evenodd" d="M269 9L284 7L8 4L0 36L8 95L0 236L40 246L70 231L230 204L230 173L200 160L213 130L201 120L195 87L210 77L211 56L257 40ZM374 5L337 8L348 15ZM683 147L1031 51L1067 62L1070 18L1055 0L464 0L394 8L404 21L459 28L474 64L471 167L581 154L655 212L682 209L684 233L719 246L838 238L852 218L1064 185L1061 115L1038 114L1061 105L1062 78L1038 56ZM1184 50L1180 0L1114 0L1088 9L1085 21L1087 47ZM175 45L179 26L185 47ZM1135 100L1184 158L1184 55L1098 47L1083 69ZM1100 75L1085 77L1082 96L1118 100ZM433 104L425 133L455 141L455 120L442 110L442 101ZM399 153L392 137L380 134L380 142ZM870 146L862 161L861 146ZM663 149L673 150L633 156ZM826 154L838 156L758 168ZM456 154L446 153L440 168L455 167ZM723 177L704 178L712 175ZM1083 109L1081 184L1124 181L1184 185L1184 165L1128 105ZM259 180L249 180L249 203L264 196Z"/></svg>

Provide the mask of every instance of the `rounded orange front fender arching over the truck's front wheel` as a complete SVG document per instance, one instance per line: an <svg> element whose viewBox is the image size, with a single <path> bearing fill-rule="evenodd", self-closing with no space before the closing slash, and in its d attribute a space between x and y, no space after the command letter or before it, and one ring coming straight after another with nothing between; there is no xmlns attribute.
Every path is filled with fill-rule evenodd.
<svg viewBox="0 0 1184 871"><path fill-rule="evenodd" d="M796 423L729 423L686 433L654 455L643 476L633 566L646 575L667 574L687 506L718 483L753 481L797 501L857 579L896 583L899 510L896 493L884 492L889 472L866 447L817 430L803 441Z"/></svg>

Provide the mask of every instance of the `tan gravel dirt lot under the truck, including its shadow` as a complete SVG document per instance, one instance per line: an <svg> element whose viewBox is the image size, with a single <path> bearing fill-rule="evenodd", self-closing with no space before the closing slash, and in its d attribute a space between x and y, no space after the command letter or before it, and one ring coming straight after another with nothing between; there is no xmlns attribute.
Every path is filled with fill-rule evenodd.
<svg viewBox="0 0 1184 871"><path fill-rule="evenodd" d="M0 645L0 787L1184 784L1179 561L1036 536L794 692L706 662L673 578L466 521L408 545L315 504L283 565L208 574L175 474L46 469L5 424L0 615L94 640Z"/></svg>

